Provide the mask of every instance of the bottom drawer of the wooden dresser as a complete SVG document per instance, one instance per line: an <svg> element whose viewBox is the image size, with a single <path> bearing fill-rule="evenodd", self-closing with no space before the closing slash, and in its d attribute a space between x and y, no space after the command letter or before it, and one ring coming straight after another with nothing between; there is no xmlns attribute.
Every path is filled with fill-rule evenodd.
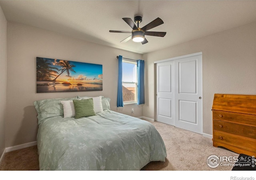
<svg viewBox="0 0 256 180"><path fill-rule="evenodd" d="M235 134L229 134L225 132L220 132L214 130L213 140L217 142L221 142L224 144L236 146L238 148L256 152L256 140L251 138L246 138L243 136L238 136Z"/></svg>

